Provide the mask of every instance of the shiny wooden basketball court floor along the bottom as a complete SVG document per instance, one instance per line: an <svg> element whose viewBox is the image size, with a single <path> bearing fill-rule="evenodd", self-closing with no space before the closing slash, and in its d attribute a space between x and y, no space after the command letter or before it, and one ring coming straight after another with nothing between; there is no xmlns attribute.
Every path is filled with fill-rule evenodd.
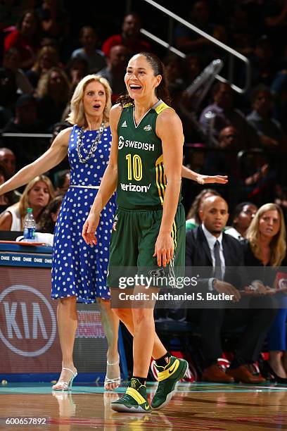
<svg viewBox="0 0 287 431"><path fill-rule="evenodd" d="M148 385L149 396L155 389L156 385ZM113 393L96 385L75 384L72 392L52 393L46 383L8 382L0 387L0 429L287 430L287 387L281 385L179 383L163 410L137 415L111 410L110 401L123 392L125 387Z"/></svg>

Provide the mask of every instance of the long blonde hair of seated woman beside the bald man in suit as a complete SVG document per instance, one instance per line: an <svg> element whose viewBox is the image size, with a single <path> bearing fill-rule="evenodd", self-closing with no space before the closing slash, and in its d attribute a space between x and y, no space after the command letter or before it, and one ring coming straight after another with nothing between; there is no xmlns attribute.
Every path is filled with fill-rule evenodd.
<svg viewBox="0 0 287 431"><path fill-rule="evenodd" d="M286 228L284 223L283 211L277 204L264 204L260 206L250 226L248 227L246 238L249 240L251 250L257 259L261 260L260 255L260 231L259 220L267 211L277 211L280 217L279 232L270 242L270 266L280 266L286 255Z"/></svg>

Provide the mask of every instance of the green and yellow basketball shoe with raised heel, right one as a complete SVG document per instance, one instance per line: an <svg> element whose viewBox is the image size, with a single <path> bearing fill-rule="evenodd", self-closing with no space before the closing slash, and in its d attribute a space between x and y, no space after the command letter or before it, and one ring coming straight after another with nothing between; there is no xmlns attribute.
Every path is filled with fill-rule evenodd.
<svg viewBox="0 0 287 431"><path fill-rule="evenodd" d="M170 362L165 367L155 364L158 370L158 389L156 389L151 407L159 410L165 407L172 399L176 383L184 377L189 364L185 359L170 356Z"/></svg>

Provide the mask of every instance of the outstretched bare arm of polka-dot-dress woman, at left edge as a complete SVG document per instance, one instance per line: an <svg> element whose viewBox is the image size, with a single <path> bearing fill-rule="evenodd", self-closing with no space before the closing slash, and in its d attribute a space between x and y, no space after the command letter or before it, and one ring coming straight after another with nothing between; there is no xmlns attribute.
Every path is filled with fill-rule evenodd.
<svg viewBox="0 0 287 431"><path fill-rule="evenodd" d="M67 155L70 132L70 127L62 130L42 156L37 158L33 163L30 163L30 165L20 169L10 180L4 182L0 186L0 195L27 184L34 177L37 177L37 175L41 175L58 165Z"/></svg>

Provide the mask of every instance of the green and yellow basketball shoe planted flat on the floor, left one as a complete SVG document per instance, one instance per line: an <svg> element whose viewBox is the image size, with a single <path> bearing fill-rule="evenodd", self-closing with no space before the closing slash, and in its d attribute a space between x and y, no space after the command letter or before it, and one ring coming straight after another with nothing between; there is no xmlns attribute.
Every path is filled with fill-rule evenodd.
<svg viewBox="0 0 287 431"><path fill-rule="evenodd" d="M151 406L148 404L146 386L141 385L139 380L132 378L127 387L127 391L122 398L110 403L114 411L127 413L151 413Z"/></svg>

